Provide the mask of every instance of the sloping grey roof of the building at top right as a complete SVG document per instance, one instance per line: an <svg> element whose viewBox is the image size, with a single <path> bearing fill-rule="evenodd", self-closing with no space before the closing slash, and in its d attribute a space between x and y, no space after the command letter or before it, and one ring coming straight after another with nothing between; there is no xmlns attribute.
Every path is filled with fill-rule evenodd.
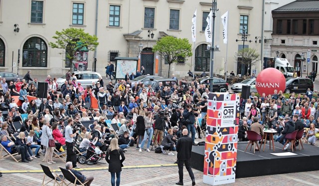
<svg viewBox="0 0 319 186"><path fill-rule="evenodd" d="M287 11L319 11L319 0L296 0L273 10L273 12Z"/></svg>

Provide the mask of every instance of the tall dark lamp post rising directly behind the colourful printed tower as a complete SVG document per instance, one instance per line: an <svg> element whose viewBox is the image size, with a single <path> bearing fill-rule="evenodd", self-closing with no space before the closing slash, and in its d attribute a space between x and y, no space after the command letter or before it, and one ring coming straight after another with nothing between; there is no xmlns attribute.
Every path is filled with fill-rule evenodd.
<svg viewBox="0 0 319 186"><path fill-rule="evenodd" d="M214 77L214 51L215 51L215 45L214 45L214 36L215 36L215 18L216 18L216 11L217 9L217 0L212 1L212 17L213 17L213 26L212 26L212 34L211 34L211 47L210 47L210 92L213 92L213 77Z"/></svg>

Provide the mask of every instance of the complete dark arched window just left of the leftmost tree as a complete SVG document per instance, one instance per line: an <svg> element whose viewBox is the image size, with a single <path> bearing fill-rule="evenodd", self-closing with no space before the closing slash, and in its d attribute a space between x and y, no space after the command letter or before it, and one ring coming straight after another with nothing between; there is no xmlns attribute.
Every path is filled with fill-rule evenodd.
<svg viewBox="0 0 319 186"><path fill-rule="evenodd" d="M47 45L40 37L25 41L22 51L22 66L47 67Z"/></svg>

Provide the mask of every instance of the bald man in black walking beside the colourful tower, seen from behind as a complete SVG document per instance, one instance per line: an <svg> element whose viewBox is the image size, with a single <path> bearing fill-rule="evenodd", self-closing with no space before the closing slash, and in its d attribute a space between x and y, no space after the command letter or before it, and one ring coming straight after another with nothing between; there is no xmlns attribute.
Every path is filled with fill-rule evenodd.
<svg viewBox="0 0 319 186"><path fill-rule="evenodd" d="M187 129L183 129L183 137L179 138L176 144L177 151L177 165L178 165L178 175L179 181L176 185L183 186L183 167L185 164L186 170L191 179L191 185L195 186L195 177L193 171L190 167L190 153L192 149L192 139L187 136Z"/></svg>

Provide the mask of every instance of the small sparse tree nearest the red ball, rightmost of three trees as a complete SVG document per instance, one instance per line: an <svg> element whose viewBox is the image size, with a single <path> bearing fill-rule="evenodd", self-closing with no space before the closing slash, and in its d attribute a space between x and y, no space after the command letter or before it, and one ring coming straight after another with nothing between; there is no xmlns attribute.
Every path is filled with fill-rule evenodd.
<svg viewBox="0 0 319 186"><path fill-rule="evenodd" d="M256 65L259 61L260 54L254 48L243 48L235 52L234 58L237 63L244 64L246 69L248 69L248 67L251 69L251 66Z"/></svg>

